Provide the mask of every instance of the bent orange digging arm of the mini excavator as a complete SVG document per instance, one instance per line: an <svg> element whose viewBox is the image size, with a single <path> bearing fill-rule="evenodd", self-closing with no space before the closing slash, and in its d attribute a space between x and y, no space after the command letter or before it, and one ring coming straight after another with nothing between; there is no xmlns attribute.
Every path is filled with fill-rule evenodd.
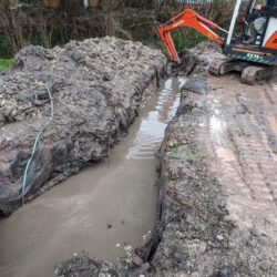
<svg viewBox="0 0 277 277"><path fill-rule="evenodd" d="M188 27L195 29L203 35L207 37L209 40L217 43L218 45L223 45L223 39L213 30L211 30L211 28L227 32L226 30L222 29L218 24L199 16L194 10L191 9L184 10L183 12L172 18L165 25L158 27L160 37L165 44L170 58L174 62L179 62L179 59L175 49L175 44L172 39L171 31L182 27Z"/></svg>

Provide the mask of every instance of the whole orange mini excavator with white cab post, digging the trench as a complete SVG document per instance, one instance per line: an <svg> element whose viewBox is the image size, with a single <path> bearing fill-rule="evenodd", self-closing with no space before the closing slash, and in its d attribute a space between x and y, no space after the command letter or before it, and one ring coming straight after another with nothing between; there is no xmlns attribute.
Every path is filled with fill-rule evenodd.
<svg viewBox="0 0 277 277"><path fill-rule="evenodd" d="M243 32L235 35L234 30L243 2L246 1L236 1L228 31L191 9L184 10L166 24L160 25L160 35L171 60L181 63L171 32L188 27L220 45L226 55L225 60L215 60L212 63L211 74L223 75L230 71L238 71L242 72L242 82L247 84L270 78L277 68L277 0L267 0L267 4L259 9L256 0L248 1L243 20ZM212 29L226 33L226 38L222 38Z"/></svg>

